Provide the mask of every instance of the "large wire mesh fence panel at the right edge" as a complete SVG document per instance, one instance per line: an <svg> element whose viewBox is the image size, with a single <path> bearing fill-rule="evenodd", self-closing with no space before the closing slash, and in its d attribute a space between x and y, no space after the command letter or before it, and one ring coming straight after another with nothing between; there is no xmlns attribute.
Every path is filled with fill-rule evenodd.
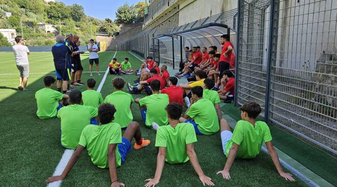
<svg viewBox="0 0 337 187"><path fill-rule="evenodd" d="M337 3L276 0L270 119L337 151Z"/></svg>

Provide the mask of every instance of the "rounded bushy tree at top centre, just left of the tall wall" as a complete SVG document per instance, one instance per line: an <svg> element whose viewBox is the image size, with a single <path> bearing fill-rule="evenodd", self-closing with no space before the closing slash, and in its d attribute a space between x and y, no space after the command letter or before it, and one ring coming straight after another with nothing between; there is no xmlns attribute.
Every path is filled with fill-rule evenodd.
<svg viewBox="0 0 337 187"><path fill-rule="evenodd" d="M134 6L129 6L127 3L121 7L118 7L116 11L115 22L117 24L131 23L135 21L137 17Z"/></svg>

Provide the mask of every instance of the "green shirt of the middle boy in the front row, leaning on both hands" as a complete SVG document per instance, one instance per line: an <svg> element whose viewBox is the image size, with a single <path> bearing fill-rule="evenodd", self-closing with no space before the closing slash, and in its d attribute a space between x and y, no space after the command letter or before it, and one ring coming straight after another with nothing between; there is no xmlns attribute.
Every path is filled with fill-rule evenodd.
<svg viewBox="0 0 337 187"><path fill-rule="evenodd" d="M172 126L161 126L156 135L156 147L166 147L165 161L170 164L185 163L189 160L186 144L197 142L196 132L191 123L178 123Z"/></svg>

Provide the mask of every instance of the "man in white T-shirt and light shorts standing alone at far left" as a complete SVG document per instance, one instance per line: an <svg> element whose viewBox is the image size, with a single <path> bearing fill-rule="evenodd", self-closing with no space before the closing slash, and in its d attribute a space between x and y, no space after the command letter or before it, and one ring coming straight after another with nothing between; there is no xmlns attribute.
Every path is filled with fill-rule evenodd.
<svg viewBox="0 0 337 187"><path fill-rule="evenodd" d="M30 52L28 47L23 45L23 38L21 36L15 37L15 42L16 45L12 48L15 55L16 68L20 72L19 86L17 88L26 91L28 90L26 86L29 76L28 55Z"/></svg>

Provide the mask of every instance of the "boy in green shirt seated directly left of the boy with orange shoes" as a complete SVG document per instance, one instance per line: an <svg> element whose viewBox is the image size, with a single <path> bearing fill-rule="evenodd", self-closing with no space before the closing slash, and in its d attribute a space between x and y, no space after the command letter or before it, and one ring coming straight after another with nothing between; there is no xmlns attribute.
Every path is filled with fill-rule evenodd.
<svg viewBox="0 0 337 187"><path fill-rule="evenodd" d="M82 105L82 93L76 89L69 93L69 104L57 114L61 118L61 144L67 149L76 149L82 130L97 116L98 109Z"/></svg>

